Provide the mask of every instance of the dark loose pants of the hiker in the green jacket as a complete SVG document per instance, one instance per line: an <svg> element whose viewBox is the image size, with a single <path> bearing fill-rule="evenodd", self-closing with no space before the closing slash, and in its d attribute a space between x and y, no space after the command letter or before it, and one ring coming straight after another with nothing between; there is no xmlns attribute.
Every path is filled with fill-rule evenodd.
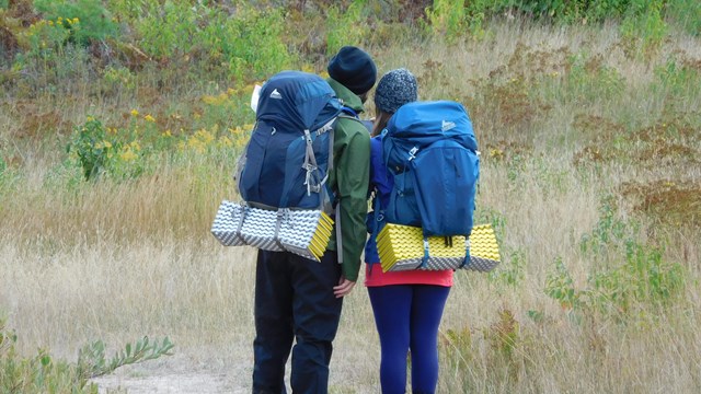
<svg viewBox="0 0 701 394"><path fill-rule="evenodd" d="M340 278L335 251L327 251L321 263L288 252L258 252L254 394L286 393L285 363L290 350L292 392L327 392L332 341L343 304L333 294Z"/></svg>

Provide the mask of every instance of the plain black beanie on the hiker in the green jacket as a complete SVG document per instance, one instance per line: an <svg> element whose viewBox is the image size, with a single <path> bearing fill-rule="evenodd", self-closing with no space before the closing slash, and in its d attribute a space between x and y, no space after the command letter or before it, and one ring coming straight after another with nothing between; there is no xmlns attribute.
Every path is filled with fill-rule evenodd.
<svg viewBox="0 0 701 394"><path fill-rule="evenodd" d="M355 94L368 92L377 80L377 67L370 55L354 46L344 46L329 61L329 77Z"/></svg>

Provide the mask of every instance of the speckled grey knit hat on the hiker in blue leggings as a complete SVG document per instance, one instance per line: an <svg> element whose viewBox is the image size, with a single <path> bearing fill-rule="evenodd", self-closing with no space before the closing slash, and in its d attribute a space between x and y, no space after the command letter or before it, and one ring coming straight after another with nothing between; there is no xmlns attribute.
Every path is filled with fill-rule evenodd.
<svg viewBox="0 0 701 394"><path fill-rule="evenodd" d="M389 71L377 84L375 106L386 113L394 114L402 105L418 100L416 91L416 78L407 69Z"/></svg>

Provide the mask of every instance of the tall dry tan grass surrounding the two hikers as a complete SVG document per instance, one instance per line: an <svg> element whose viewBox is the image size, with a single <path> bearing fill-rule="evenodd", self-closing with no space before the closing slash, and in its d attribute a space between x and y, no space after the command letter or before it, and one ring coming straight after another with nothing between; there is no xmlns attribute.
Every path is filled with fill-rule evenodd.
<svg viewBox="0 0 701 394"><path fill-rule="evenodd" d="M440 393L701 390L699 219L665 222L664 215L648 215L634 198L655 192L652 186L642 195L623 193L627 183L659 179L701 189L693 158L645 157L636 137L669 121L663 113L677 100L674 111L694 125L678 142L699 153L699 89L676 86L681 96L675 96L652 92L650 84L655 70L678 54L700 61L700 44L673 35L659 53L640 59L624 53L612 26L559 30L515 22L457 47L404 38L369 48L382 71L412 70L422 99L466 103L482 150L478 217L501 223L504 262L497 271L456 274L440 328ZM596 61L573 82L565 76L573 76L576 56ZM599 80L607 76L611 85ZM181 92L183 102L195 100L188 95L195 91ZM111 113L88 111L85 103L35 105L56 105L64 119ZM232 391L245 391L255 254L221 247L208 233L218 202L233 197L233 163L193 155L133 182L57 186L47 179L60 151L51 143L13 142L7 136L18 131L16 120L0 115L3 144L15 144L22 174L0 194L0 311L20 334L20 349L48 347L73 357L93 338L120 344L169 335L179 362L220 371ZM558 260L573 286L584 289L601 265L625 259L613 244L606 245L608 254L582 252L607 196L620 207L618 220L640 225L634 243L662 244L664 260L683 267L680 294L662 303L637 300L623 313L607 314L567 308L545 293ZM667 213L679 213L671 204ZM686 213L699 215L693 204L698 199ZM358 283L344 304L332 392L379 392L378 366L372 314Z"/></svg>

